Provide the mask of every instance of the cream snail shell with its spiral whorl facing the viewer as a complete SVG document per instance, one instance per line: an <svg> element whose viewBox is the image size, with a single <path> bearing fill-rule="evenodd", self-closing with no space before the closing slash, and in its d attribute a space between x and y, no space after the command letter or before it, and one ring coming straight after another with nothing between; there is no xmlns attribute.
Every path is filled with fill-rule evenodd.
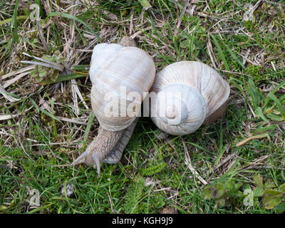
<svg viewBox="0 0 285 228"><path fill-rule="evenodd" d="M229 97L229 84L204 63L181 61L162 69L151 91L152 121L171 135L187 135L199 128Z"/></svg>

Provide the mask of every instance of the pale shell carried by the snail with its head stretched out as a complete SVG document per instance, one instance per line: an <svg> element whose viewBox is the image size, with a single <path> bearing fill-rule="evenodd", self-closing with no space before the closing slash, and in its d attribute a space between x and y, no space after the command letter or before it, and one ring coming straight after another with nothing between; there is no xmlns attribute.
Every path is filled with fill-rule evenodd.
<svg viewBox="0 0 285 228"><path fill-rule="evenodd" d="M101 43L93 49L90 79L91 104L100 125L123 130L139 114L143 93L155 80L155 63L140 48Z"/></svg>

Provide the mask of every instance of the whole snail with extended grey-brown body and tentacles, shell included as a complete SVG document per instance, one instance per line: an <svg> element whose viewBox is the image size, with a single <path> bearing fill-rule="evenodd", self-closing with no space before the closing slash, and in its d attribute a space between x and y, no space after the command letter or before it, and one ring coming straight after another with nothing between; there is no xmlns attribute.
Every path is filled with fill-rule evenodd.
<svg viewBox="0 0 285 228"><path fill-rule="evenodd" d="M144 93L155 80L152 58L130 38L120 43L100 43L93 48L91 105L100 127L95 140L70 165L84 162L97 168L98 177L101 162L119 162L137 123Z"/></svg>

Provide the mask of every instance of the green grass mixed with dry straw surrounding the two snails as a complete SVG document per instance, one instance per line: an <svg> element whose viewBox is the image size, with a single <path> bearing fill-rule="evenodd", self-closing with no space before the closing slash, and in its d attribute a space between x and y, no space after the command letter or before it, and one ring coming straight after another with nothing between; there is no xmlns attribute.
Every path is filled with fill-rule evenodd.
<svg viewBox="0 0 285 228"><path fill-rule="evenodd" d="M29 16L35 2L39 25ZM284 1L157 0L147 11L143 1L45 2L0 3L1 213L284 212ZM243 21L247 4L257 4L253 21ZM182 60L215 68L231 86L229 105L222 120L183 138L160 140L151 120L140 118L120 163L104 164L98 179L92 168L66 165L97 135L90 51L125 35L157 71ZM38 60L24 53L64 58L69 76L39 85L21 62ZM207 185L185 164L187 154ZM68 183L71 197L61 194ZM30 204L31 190L39 206ZM254 194L251 205L245 190Z"/></svg>

